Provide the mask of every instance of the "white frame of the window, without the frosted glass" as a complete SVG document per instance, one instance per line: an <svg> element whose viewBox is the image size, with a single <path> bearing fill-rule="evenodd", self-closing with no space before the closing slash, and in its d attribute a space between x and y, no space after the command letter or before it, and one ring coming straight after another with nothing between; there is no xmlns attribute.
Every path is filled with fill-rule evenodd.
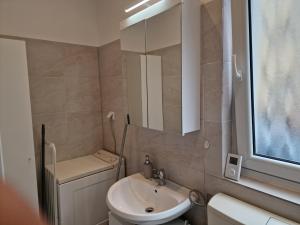
<svg viewBox="0 0 300 225"><path fill-rule="evenodd" d="M233 52L237 56L236 65L242 71L241 80L236 71L233 72L237 151L243 155L242 167L300 183L299 165L253 154L248 0L232 0L232 13Z"/></svg>

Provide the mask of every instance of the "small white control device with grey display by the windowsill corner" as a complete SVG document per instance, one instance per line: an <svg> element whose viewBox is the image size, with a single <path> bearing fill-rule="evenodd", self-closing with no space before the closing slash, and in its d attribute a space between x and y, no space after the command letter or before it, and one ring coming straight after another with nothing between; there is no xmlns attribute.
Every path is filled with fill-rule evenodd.
<svg viewBox="0 0 300 225"><path fill-rule="evenodd" d="M242 156L228 153L225 177L238 181L241 175Z"/></svg>

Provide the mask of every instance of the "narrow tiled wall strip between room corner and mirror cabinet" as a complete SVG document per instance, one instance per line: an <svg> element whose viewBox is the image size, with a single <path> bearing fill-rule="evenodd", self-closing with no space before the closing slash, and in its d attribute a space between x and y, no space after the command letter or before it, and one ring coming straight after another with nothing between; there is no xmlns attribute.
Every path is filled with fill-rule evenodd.
<svg viewBox="0 0 300 225"><path fill-rule="evenodd" d="M126 78L122 74L122 55L119 41L99 48L100 85L102 98L103 147L114 151L112 130L107 114L116 113L113 126L116 130L117 146L120 146L127 111Z"/></svg>

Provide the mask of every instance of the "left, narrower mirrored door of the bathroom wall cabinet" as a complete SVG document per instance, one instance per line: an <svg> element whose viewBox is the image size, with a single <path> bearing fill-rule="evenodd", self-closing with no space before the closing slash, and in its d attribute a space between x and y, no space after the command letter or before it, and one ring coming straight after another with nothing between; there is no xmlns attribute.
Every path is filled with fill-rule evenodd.
<svg viewBox="0 0 300 225"><path fill-rule="evenodd" d="M145 21L121 31L123 73L127 78L128 114L132 125L148 127Z"/></svg>

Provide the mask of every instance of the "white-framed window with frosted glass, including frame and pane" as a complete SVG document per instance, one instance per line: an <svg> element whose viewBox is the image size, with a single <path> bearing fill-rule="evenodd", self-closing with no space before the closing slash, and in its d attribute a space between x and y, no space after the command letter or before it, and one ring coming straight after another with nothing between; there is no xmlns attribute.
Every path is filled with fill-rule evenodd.
<svg viewBox="0 0 300 225"><path fill-rule="evenodd" d="M235 81L238 152L248 169L300 182L300 1L240 2L233 7L234 20L243 18L233 28L244 71Z"/></svg>

